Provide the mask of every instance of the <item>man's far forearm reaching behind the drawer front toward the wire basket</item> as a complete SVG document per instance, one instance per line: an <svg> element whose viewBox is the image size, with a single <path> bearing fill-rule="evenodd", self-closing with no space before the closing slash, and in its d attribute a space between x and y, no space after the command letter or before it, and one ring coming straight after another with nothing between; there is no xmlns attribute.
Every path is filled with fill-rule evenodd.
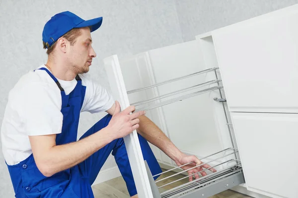
<svg viewBox="0 0 298 198"><path fill-rule="evenodd" d="M174 161L177 161L183 153L164 135L164 133L146 116L141 116L138 133L151 144L161 149Z"/></svg>

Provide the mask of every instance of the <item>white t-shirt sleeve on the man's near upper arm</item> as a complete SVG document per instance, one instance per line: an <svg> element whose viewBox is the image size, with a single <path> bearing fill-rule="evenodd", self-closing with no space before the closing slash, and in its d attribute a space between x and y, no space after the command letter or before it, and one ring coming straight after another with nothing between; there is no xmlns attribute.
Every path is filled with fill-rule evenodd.
<svg viewBox="0 0 298 198"><path fill-rule="evenodd" d="M17 111L29 136L59 134L62 131L60 91L48 84L32 83L18 94Z"/></svg>

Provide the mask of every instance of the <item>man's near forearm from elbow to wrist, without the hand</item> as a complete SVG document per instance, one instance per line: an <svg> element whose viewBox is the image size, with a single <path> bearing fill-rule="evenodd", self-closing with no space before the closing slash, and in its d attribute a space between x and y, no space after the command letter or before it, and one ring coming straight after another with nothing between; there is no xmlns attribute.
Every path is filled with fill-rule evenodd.
<svg viewBox="0 0 298 198"><path fill-rule="evenodd" d="M47 149L36 163L40 171L49 177L82 162L112 140L108 129L103 128L80 141Z"/></svg>

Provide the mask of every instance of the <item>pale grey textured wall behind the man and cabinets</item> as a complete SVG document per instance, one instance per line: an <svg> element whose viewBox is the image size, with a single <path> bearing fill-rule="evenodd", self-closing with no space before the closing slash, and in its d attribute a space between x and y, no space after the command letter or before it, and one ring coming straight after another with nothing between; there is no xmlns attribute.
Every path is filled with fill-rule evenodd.
<svg viewBox="0 0 298 198"><path fill-rule="evenodd" d="M108 88L102 58L120 57L193 40L244 19L297 3L298 0L0 0L0 123L8 92L29 70L46 62L42 29L55 13L70 10L83 19L103 16L91 34L97 58L92 78ZM83 113L79 135L104 114ZM114 166L108 159L103 169ZM0 152L0 197L13 197Z"/></svg>

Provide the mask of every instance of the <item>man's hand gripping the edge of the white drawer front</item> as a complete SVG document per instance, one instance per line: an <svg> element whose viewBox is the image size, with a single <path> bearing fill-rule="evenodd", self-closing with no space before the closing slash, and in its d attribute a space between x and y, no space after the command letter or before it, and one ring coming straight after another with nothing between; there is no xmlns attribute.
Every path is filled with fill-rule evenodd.
<svg viewBox="0 0 298 198"><path fill-rule="evenodd" d="M123 138L139 128L138 117L145 115L145 111L134 112L135 110L135 106L129 106L121 111L119 102L115 101L115 111L107 126L113 133L114 139Z"/></svg>

